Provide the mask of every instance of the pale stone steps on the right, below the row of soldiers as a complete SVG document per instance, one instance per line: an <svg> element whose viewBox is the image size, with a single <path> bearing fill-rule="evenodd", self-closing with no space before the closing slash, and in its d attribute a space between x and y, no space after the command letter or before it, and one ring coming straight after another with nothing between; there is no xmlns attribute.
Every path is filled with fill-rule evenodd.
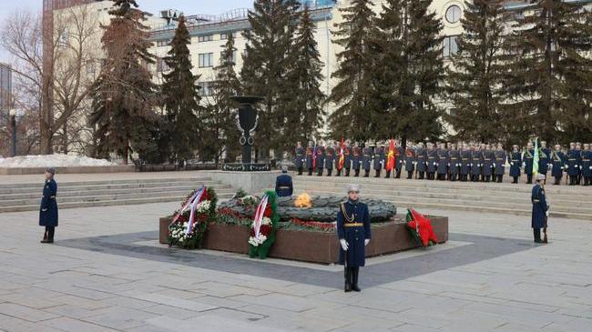
<svg viewBox="0 0 592 332"><path fill-rule="evenodd" d="M373 177L293 176L294 194L345 196L347 184L362 187L362 197L398 207L428 207L530 216L532 185L463 183ZM592 221L592 187L546 185L550 216Z"/></svg>

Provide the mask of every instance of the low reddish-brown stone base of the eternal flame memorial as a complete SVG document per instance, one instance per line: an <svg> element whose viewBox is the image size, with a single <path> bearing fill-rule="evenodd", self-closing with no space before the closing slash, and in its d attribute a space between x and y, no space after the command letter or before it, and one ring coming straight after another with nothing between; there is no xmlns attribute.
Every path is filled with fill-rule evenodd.
<svg viewBox="0 0 592 332"><path fill-rule="evenodd" d="M432 220L434 233L439 243L448 241L448 217L427 216ZM160 218L159 241L167 243L168 224L171 217ZM418 247L405 224L381 223L372 228L373 239L366 246L366 257L396 253ZM250 229L247 226L210 224L204 239L203 248L229 251L239 254L249 253ZM279 229L276 240L270 248L269 257L299 260L311 263L336 263L339 255L339 241L336 233L315 231L294 231Z"/></svg>

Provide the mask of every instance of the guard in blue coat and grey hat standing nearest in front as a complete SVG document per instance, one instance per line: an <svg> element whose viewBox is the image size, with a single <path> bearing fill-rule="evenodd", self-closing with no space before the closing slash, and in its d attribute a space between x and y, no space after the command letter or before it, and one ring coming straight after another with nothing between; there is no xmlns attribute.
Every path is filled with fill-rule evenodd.
<svg viewBox="0 0 592 332"><path fill-rule="evenodd" d="M339 264L344 268L346 292L359 292L360 267L365 264L364 247L370 243L370 213L368 206L360 202L360 186L348 186L348 200L340 205L337 213L337 236L339 237Z"/></svg>

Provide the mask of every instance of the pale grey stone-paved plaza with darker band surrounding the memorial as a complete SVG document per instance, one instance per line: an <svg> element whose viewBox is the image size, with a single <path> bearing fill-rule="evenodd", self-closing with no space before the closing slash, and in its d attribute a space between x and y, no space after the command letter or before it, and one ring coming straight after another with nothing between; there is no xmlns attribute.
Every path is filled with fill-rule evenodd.
<svg viewBox="0 0 592 332"><path fill-rule="evenodd" d="M552 198L552 197L551 197ZM342 269L158 245L178 203L60 210L41 245L37 212L0 214L3 331L589 331L592 223L422 209L450 241L375 257L362 293Z"/></svg>

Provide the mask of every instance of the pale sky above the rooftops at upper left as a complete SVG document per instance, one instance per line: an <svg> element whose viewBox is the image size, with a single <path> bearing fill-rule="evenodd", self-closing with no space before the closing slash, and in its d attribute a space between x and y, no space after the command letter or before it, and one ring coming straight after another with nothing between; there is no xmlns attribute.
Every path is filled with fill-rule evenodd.
<svg viewBox="0 0 592 332"><path fill-rule="evenodd" d="M0 23L15 13L16 10L26 9L41 11L43 0L0 0ZM186 15L207 14L218 15L235 8L251 8L253 0L137 0L140 8L154 13L160 9L179 9ZM7 62L8 55L0 49L0 61Z"/></svg>

